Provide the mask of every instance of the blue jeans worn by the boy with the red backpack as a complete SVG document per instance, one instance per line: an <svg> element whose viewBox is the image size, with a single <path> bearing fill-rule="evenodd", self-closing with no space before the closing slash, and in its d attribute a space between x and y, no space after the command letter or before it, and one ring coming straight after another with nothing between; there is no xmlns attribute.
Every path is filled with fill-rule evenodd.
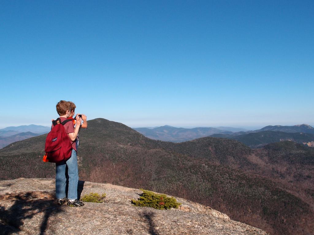
<svg viewBox="0 0 314 235"><path fill-rule="evenodd" d="M67 177L65 169L68 166L69 186L68 199L78 198L78 159L76 151L72 149L71 157L67 161L56 163L56 197L62 199L66 197Z"/></svg>

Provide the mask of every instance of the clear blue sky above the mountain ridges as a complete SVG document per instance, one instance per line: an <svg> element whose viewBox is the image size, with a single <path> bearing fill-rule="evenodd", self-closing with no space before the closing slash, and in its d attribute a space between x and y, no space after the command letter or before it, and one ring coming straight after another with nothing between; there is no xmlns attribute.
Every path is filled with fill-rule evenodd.
<svg viewBox="0 0 314 235"><path fill-rule="evenodd" d="M314 125L313 1L1 1L0 128Z"/></svg>

